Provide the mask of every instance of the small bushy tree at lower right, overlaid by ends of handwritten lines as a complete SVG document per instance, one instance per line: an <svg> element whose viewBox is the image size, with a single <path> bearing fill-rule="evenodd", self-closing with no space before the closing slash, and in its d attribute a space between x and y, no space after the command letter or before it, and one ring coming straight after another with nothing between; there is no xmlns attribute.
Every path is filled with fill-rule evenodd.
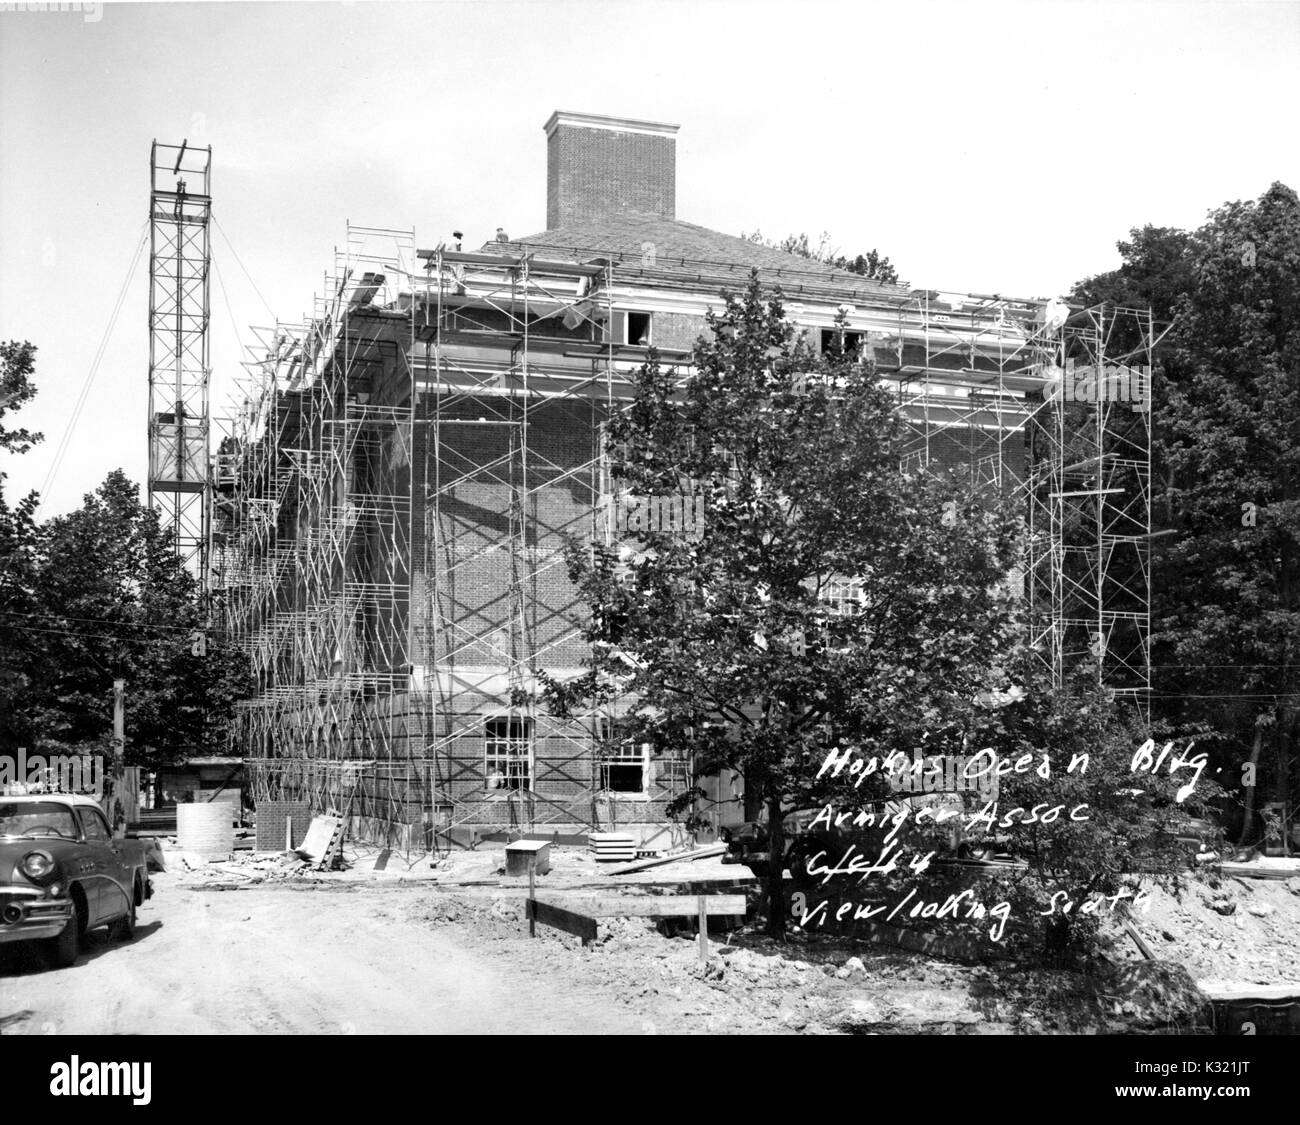
<svg viewBox="0 0 1300 1125"><path fill-rule="evenodd" d="M1006 773L997 792L998 815L1013 822L996 835L1019 865L985 877L980 895L1011 904L1010 946L1057 962L1087 960L1115 913L1109 904L1093 909L1102 896L1127 904L1152 884L1183 886L1195 848L1178 835L1218 787L1187 740L1162 757L1164 744L1148 741L1138 714L1117 706L1093 667L1075 668L1065 689L1053 691L1041 661L1023 646L1009 663L1018 697L975 708L966 734L1000 762L1027 766ZM1026 812L1017 817L1015 809ZM1074 904L1069 912L1066 903Z"/></svg>

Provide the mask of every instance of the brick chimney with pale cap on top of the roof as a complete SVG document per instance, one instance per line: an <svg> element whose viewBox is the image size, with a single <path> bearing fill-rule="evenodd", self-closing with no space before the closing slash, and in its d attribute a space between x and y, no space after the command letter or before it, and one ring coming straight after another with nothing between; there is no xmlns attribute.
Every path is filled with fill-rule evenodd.
<svg viewBox="0 0 1300 1125"><path fill-rule="evenodd" d="M628 211L675 217L676 125L556 109L545 129L547 230Z"/></svg>

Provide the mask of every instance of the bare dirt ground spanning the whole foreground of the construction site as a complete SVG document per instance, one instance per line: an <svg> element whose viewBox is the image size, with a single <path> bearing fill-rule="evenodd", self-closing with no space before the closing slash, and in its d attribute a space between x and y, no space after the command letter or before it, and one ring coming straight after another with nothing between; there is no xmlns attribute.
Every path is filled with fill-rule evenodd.
<svg viewBox="0 0 1300 1125"><path fill-rule="evenodd" d="M744 874L673 864L611 886L582 851L552 858L540 887L560 893ZM775 946L754 925L719 925L703 964L685 922L602 920L589 948L545 926L529 938L526 886L500 877L503 861L173 862L129 944L94 934L62 970L0 948L0 1034L1187 1031L1204 1024L1193 979L1300 990L1300 879L1201 877L1180 900L1157 893L1134 922L1166 964L1117 934L1113 973L1093 979L824 935Z"/></svg>

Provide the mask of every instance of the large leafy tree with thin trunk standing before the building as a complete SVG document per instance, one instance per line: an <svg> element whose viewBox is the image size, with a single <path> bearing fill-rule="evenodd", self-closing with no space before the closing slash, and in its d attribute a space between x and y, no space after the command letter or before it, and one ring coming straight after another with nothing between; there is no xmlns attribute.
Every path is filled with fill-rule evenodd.
<svg viewBox="0 0 1300 1125"><path fill-rule="evenodd" d="M902 471L870 362L816 355L757 273L724 299L684 388L651 352L608 429L624 493L699 497L702 535L573 544L592 654L580 678L541 680L560 715L632 700L629 736L744 775L781 934L781 819L826 748L915 744L1005 679L1018 527L958 479Z"/></svg>

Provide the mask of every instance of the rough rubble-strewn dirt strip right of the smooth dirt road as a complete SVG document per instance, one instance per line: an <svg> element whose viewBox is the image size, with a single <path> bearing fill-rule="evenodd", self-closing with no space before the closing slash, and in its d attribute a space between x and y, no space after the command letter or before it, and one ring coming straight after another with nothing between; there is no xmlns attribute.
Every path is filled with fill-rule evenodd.
<svg viewBox="0 0 1300 1125"><path fill-rule="evenodd" d="M651 918L602 918L581 947L547 926L528 936L520 896L419 892L407 917L464 931L488 956L599 990L649 1013L647 1029L802 1034L1193 1033L1205 998L1166 961L1119 961L1096 973L972 966L852 939L793 934L784 943L745 926L708 943L666 936ZM1154 908L1153 908L1154 909ZM1139 917L1141 917L1139 914Z"/></svg>

